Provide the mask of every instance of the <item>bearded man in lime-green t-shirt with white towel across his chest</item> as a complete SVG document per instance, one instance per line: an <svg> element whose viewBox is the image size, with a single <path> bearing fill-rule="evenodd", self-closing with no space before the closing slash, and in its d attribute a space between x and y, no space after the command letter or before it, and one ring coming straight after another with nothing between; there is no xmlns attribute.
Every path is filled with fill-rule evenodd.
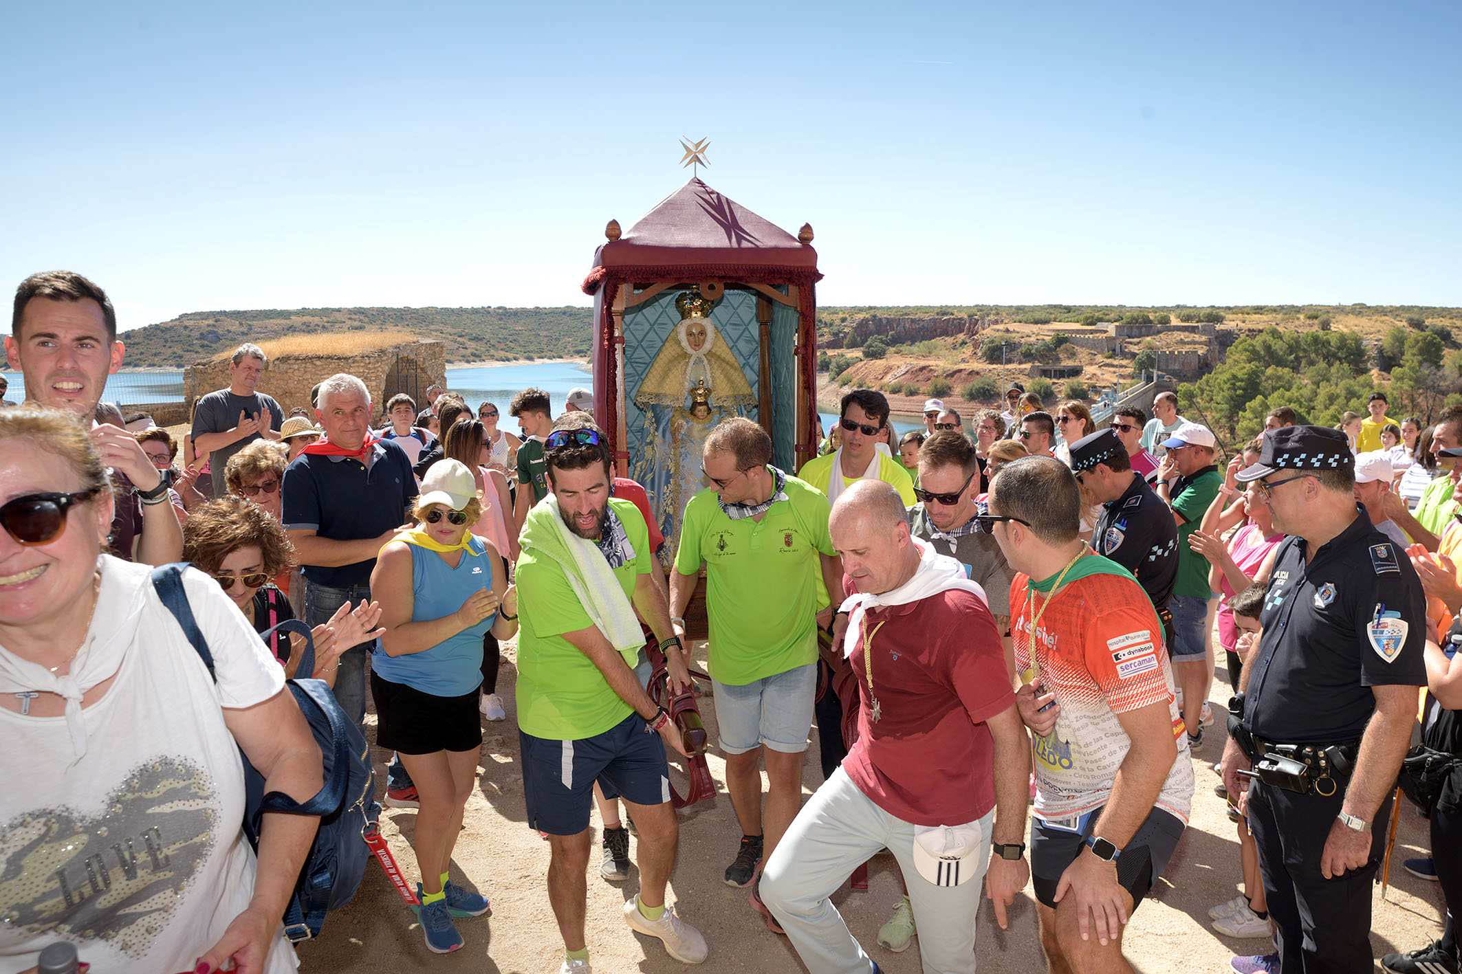
<svg viewBox="0 0 1462 974"><path fill-rule="evenodd" d="M665 650L670 682L690 683L665 594L651 577L649 530L632 501L610 496L608 441L588 413L564 415L542 445L550 494L528 511L519 537L518 736L528 825L548 837L560 971L589 970L595 781L605 797L624 799L639 832L640 889L624 904L624 921L677 961L700 964L705 937L665 904L678 824L664 745L686 751L632 669L645 644L637 609Z"/></svg>

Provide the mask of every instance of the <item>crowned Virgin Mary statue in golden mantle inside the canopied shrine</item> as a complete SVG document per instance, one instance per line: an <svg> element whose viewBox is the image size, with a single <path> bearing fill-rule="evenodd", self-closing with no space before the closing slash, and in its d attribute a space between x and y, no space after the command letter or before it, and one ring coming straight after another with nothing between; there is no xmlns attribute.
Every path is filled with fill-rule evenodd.
<svg viewBox="0 0 1462 974"><path fill-rule="evenodd" d="M686 502L705 486L700 450L706 435L721 419L738 416L756 402L735 353L718 340L712 307L697 288L675 298L680 324L635 391L649 428L635 479L651 495L670 556L680 542Z"/></svg>

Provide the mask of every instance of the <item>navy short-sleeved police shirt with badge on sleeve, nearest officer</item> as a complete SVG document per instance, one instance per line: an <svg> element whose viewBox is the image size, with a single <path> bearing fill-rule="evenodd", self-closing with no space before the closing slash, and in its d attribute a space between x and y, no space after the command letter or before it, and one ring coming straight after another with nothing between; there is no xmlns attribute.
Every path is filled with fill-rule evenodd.
<svg viewBox="0 0 1462 974"><path fill-rule="evenodd" d="M1306 562L1279 545L1260 612L1263 634L1244 694L1244 727L1279 743L1360 740L1371 686L1425 686L1421 581L1364 511Z"/></svg>

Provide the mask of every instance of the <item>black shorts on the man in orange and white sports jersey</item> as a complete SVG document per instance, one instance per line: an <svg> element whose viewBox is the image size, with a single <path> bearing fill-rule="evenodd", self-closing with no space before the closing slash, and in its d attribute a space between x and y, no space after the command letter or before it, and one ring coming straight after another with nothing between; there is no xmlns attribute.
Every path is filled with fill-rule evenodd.
<svg viewBox="0 0 1462 974"><path fill-rule="evenodd" d="M1098 818L1099 808L1075 822L1063 824L1070 828L1035 819L1031 827L1031 879L1035 883L1035 898L1044 905L1056 908L1056 886L1061 882L1061 873L1076 862ZM1132 894L1133 910L1152 889L1152 881L1167 869L1184 828L1183 819L1155 808L1117 856L1117 882Z"/></svg>

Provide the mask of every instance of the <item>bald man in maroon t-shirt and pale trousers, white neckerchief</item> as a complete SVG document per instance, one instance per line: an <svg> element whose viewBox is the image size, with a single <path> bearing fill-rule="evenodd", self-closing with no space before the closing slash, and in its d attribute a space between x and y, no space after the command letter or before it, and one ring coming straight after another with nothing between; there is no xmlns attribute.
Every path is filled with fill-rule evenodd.
<svg viewBox="0 0 1462 974"><path fill-rule="evenodd" d="M909 536L887 483L851 485L829 529L845 571L838 615L860 686L858 739L772 853L762 900L811 974L877 971L830 897L887 848L924 973L972 973L981 876L1001 927L1029 878L1031 742L1000 632L963 567Z"/></svg>

